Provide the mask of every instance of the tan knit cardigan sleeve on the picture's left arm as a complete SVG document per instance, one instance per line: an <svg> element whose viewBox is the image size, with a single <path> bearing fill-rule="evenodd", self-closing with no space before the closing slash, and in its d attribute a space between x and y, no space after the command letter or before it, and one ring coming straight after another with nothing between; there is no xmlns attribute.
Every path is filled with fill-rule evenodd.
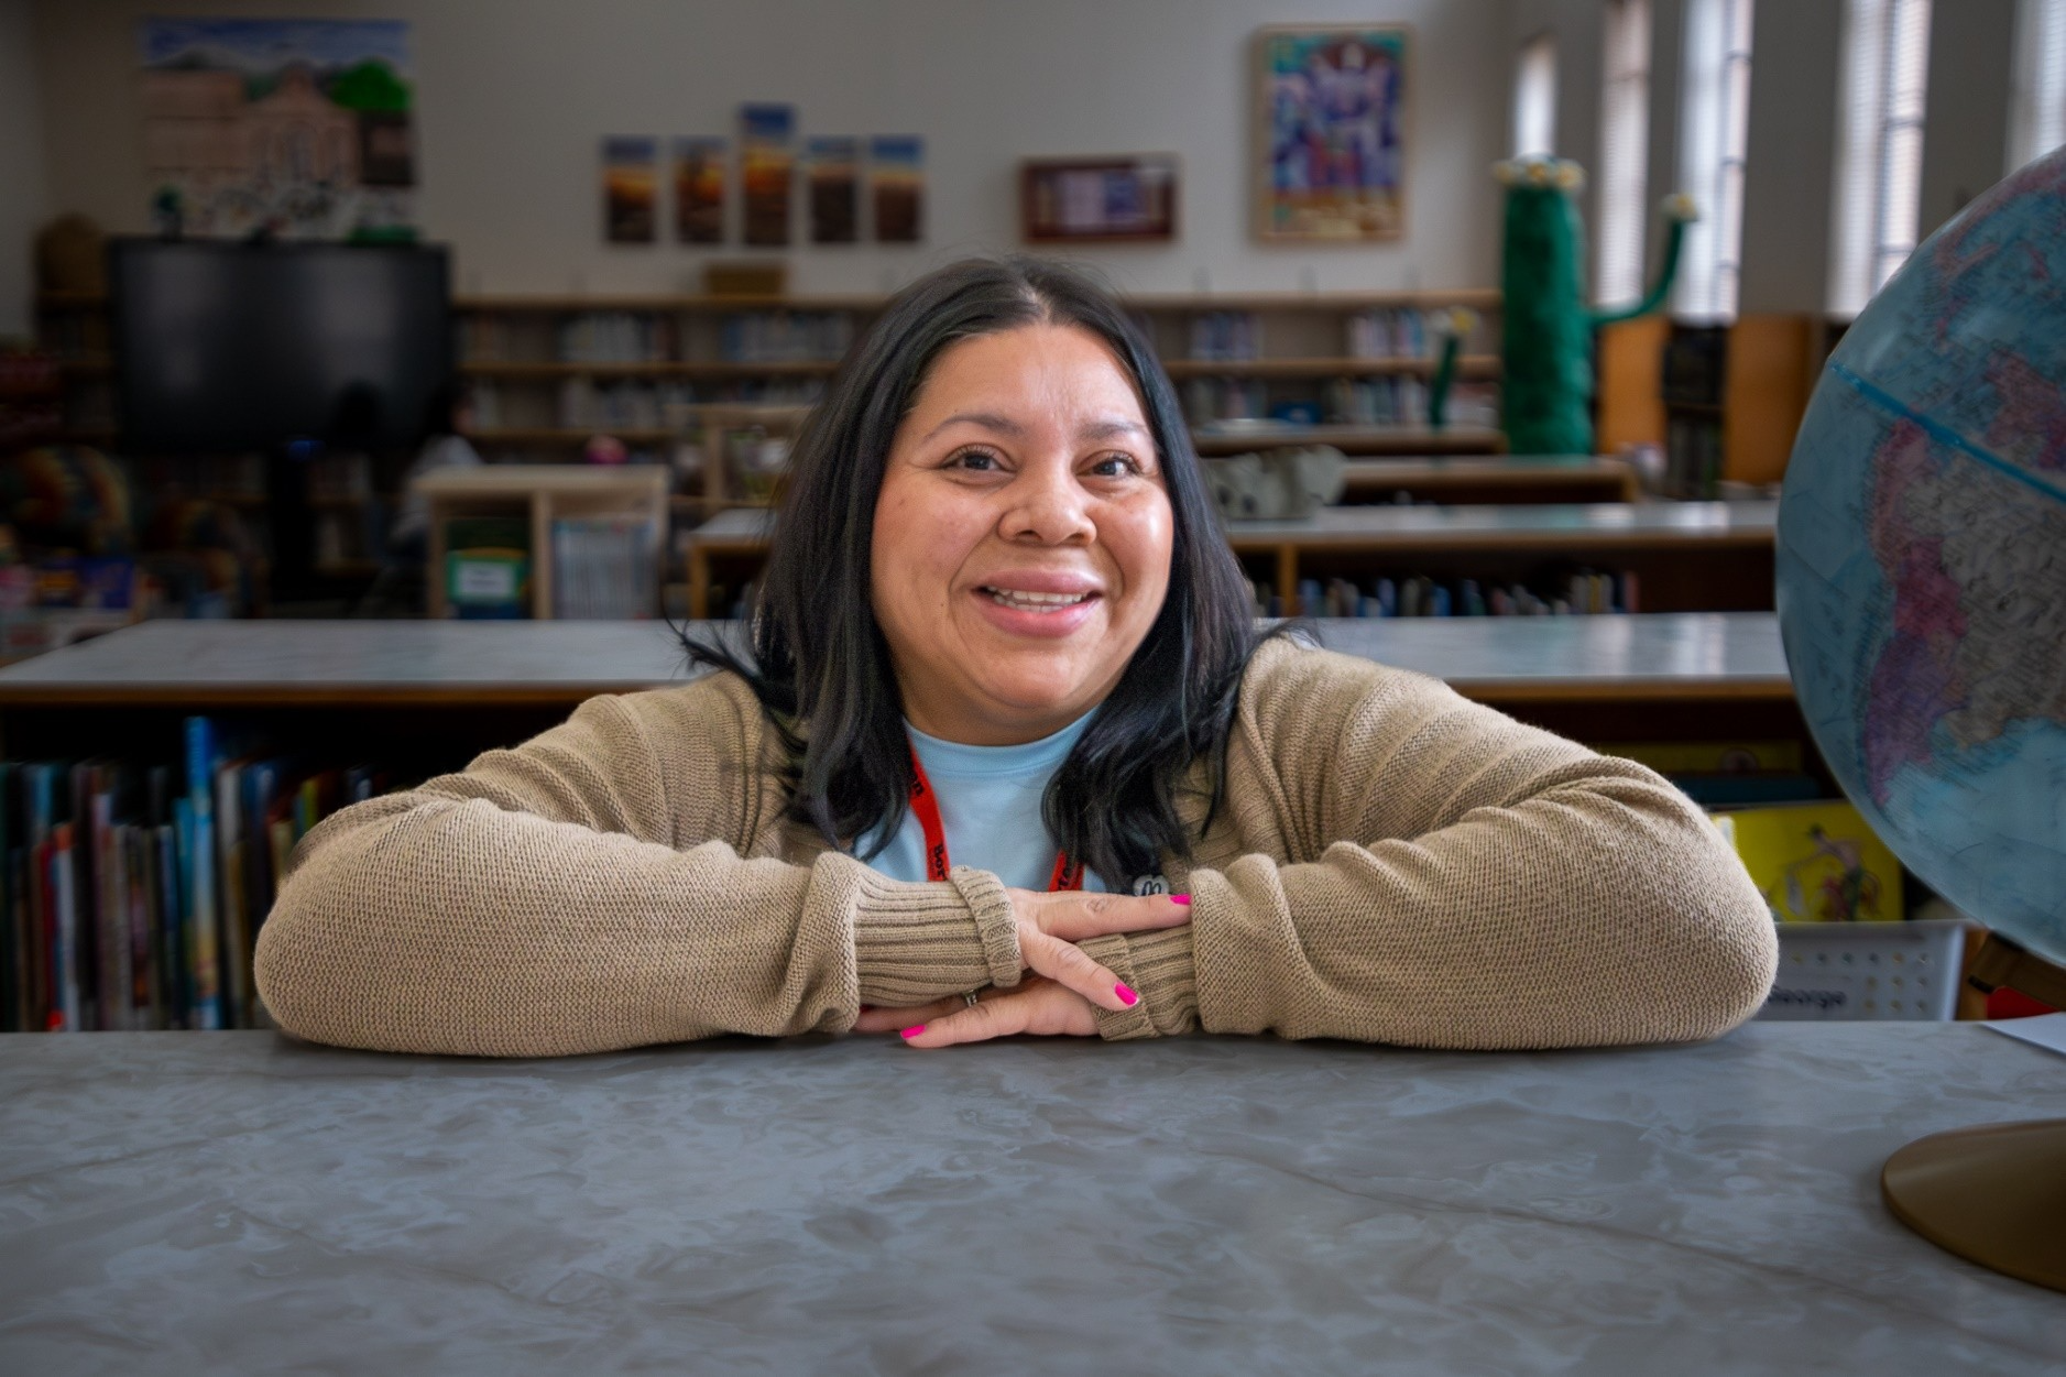
<svg viewBox="0 0 2066 1377"><path fill-rule="evenodd" d="M552 1057L835 1032L862 1003L1016 982L996 877L748 856L779 825L756 713L723 674L597 697L331 815L258 932L269 1013L343 1046Z"/></svg>

